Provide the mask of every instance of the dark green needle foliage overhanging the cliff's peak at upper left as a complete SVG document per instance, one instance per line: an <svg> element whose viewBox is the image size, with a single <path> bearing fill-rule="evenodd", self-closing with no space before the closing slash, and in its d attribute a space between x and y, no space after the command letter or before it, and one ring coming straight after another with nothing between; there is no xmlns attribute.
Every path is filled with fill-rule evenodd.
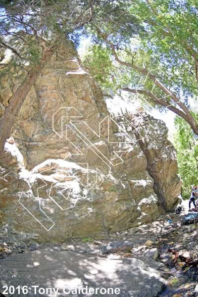
<svg viewBox="0 0 198 297"><path fill-rule="evenodd" d="M27 71L36 71L46 50L68 39L78 45L83 34L92 34L99 42L98 27L120 39L125 32L128 38L137 32L139 21L127 9L123 0L2 0L0 59L6 50L12 53L0 67L0 81L17 79L20 84Z"/></svg>

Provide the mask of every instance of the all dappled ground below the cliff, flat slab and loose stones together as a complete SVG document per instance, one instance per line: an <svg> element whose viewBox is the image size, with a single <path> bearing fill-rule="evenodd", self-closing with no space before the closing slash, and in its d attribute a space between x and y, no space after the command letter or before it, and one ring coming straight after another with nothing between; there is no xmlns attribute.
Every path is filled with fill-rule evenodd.
<svg viewBox="0 0 198 297"><path fill-rule="evenodd" d="M87 282L88 286L93 288L97 286L99 288L108 288L107 285L110 284L112 288L117 286L117 288L121 289L119 295L110 296L195 296L194 289L198 284L198 269L193 266L189 267L180 260L173 266L174 255L167 251L168 248L180 252L198 251L196 225L181 225L184 215L188 212L188 201L183 204L183 211L180 215L169 213L140 228L132 228L122 234L112 234L108 240L85 243L82 243L82 240L68 240L62 245L62 248L65 248L66 244L72 245L71 248L74 251L62 250L61 245L55 244L14 243L1 236L0 247L3 249L0 255L2 258L0 263L1 284L6 283L8 286L13 285L16 287L17 284L26 283L28 287L35 284L42 288L50 286L51 288L55 288L55 286L57 288L59 286L57 284L63 284L61 282L73 281L72 284L74 285L81 282L81 286L85 286ZM171 219L172 222L168 223L167 218ZM132 258L125 258L126 254L120 252L100 255L102 246L109 242L126 240L134 244L130 255ZM145 248L136 251L147 240L151 240L153 242L151 247L156 247L158 250L156 261L143 256ZM45 264L45 261L48 264ZM42 269L40 270L40 268ZM31 271L29 276L28 271ZM44 271L47 271L47 273L45 274ZM58 281L59 283L57 283ZM31 290L28 292L29 295L24 296L40 296L31 295L33 292ZM23 295L15 294L12 296ZM42 294L41 296L53 295ZM100 294L90 296L100 296Z"/></svg>

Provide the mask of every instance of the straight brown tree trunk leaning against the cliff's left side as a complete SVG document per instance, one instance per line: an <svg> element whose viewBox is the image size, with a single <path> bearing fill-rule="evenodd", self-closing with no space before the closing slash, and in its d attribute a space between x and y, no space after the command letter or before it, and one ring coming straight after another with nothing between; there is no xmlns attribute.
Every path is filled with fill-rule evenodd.
<svg viewBox="0 0 198 297"><path fill-rule="evenodd" d="M54 51L55 49L46 50L36 70L28 73L23 83L14 93L9 105L5 108L4 114L0 120L0 153L4 148L6 139L9 137L10 130L14 124L21 105L23 104L23 101L26 99L26 96L28 95L34 82L38 78L44 66L49 61L49 58L52 56Z"/></svg>

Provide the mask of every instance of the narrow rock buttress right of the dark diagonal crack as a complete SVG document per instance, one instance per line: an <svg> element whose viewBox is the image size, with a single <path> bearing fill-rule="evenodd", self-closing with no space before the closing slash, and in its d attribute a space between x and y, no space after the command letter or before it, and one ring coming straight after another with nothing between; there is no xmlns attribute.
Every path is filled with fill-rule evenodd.
<svg viewBox="0 0 198 297"><path fill-rule="evenodd" d="M176 197L182 185L177 175L177 152L167 139L168 128L162 120L140 111L136 115L117 117L122 126L127 127L128 121L132 123L132 132L147 158L147 171L154 180L153 190L158 202L168 211L178 202Z"/></svg>

